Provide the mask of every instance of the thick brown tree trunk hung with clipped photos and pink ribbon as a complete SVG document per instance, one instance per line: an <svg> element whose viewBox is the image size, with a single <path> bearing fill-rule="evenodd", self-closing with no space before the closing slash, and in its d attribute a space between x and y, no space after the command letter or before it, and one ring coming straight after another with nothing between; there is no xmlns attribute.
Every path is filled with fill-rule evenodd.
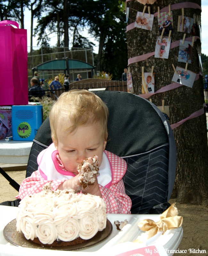
<svg viewBox="0 0 208 256"><path fill-rule="evenodd" d="M189 2L188 0L174 0L171 4ZM201 1L196 0L194 3L201 6ZM155 4L150 6L150 13L157 12L168 6L169 2L165 0L157 0ZM129 8L128 24L135 21L137 11L143 12L144 5L137 1L128 1ZM148 8L146 9L148 13ZM195 8L184 8L184 16L193 17L193 14L201 17L201 10ZM177 32L178 16L182 15L181 9L172 10L174 33L171 35L171 42L183 39L184 33ZM133 28L127 31L127 47L128 58L155 52L156 39L158 33L157 16L154 17L152 30L144 30L141 28ZM186 34L191 37L191 34ZM197 39L193 47L192 64L188 64L188 70L199 74L199 60L196 47L201 47L201 42ZM142 67L144 72L150 72L154 66L155 73L155 91L172 83L174 66L180 66L185 69L186 63L178 62L179 47L170 49L168 59L155 58L154 55L146 60L129 64L132 72L132 80L135 94L141 94L142 84ZM179 122L187 118L193 112L203 108L204 91L202 75L194 82L193 88L180 86L179 88L169 90L167 92L157 93L151 96L152 102L156 106L162 105L170 108L170 124ZM207 130L206 115L190 119L184 124L173 130L177 146L177 170L175 186L172 198L177 199L180 203L208 203L208 146L207 146Z"/></svg>

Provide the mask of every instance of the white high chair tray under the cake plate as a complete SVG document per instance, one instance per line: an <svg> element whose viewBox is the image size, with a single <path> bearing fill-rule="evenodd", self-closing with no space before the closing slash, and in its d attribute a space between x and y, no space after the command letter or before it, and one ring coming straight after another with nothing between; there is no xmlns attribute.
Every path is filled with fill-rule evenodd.
<svg viewBox="0 0 208 256"><path fill-rule="evenodd" d="M16 218L18 207L0 206L0 255L1 256L116 256L125 251L138 249L146 246L145 244L132 243L141 231L138 223L142 219L151 218L155 221L159 220L159 215L138 215L138 214L108 214L108 219L112 223L113 231L111 235L92 247L88 247L78 251L61 251L50 249L34 249L15 246L9 243L3 235L4 226L6 226L12 219ZM115 220L128 220L128 224L123 227L121 231L116 229ZM160 256L171 256L174 253L166 253L168 250L177 250L183 236L182 227L173 230L167 230L164 235L161 235L152 246L157 246L161 251ZM151 246L149 245L149 246ZM167 251L168 252L168 251ZM128 254L126 254L128 255ZM149 255L149 254L146 254ZM152 253L152 255L158 255Z"/></svg>

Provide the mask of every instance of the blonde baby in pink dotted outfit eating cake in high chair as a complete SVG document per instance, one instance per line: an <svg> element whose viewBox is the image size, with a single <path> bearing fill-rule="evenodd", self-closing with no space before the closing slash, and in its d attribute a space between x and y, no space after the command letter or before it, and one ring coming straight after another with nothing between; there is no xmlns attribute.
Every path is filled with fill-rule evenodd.
<svg viewBox="0 0 208 256"><path fill-rule="evenodd" d="M125 194L127 164L105 150L108 108L94 93L71 90L60 95L49 114L53 143L37 158L38 170L20 185L19 198L40 192L45 183L52 190L74 189L103 198L108 213L130 213L131 199ZM86 158L98 157L99 176L89 186L80 184L77 167Z"/></svg>

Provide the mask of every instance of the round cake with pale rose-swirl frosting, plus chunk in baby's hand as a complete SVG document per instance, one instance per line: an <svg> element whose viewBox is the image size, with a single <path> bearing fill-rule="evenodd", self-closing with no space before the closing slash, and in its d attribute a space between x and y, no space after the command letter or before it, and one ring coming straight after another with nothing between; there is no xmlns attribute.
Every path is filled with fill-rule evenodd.
<svg viewBox="0 0 208 256"><path fill-rule="evenodd" d="M97 166L97 158L85 160L84 163L90 163L90 168ZM80 182L86 185L93 182L93 175L90 175L91 181L85 178ZM49 182L41 192L20 201L16 221L17 231L35 243L74 245L91 239L106 228L106 204L99 196L77 194L72 189L52 191Z"/></svg>

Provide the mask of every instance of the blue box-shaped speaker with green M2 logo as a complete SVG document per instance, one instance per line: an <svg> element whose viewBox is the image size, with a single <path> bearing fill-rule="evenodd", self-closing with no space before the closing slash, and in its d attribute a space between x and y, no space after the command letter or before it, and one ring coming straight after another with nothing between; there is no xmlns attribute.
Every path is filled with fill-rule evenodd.
<svg viewBox="0 0 208 256"><path fill-rule="evenodd" d="M43 106L12 106L13 141L33 141L38 128L43 123Z"/></svg>

